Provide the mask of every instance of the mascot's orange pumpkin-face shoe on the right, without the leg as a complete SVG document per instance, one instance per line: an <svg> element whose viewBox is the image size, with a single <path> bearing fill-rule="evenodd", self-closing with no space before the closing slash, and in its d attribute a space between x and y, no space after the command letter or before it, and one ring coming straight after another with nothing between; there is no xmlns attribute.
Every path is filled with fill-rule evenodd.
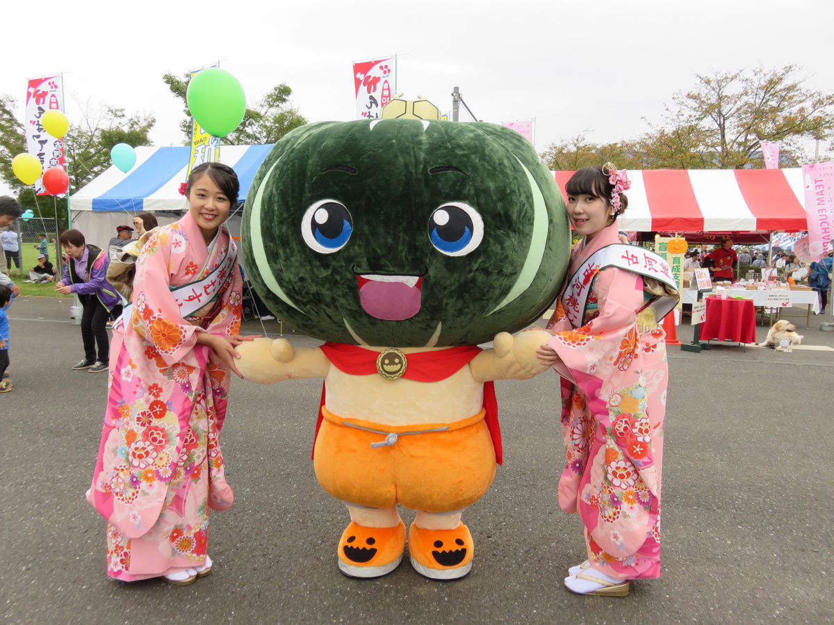
<svg viewBox="0 0 834 625"><path fill-rule="evenodd" d="M424 529L411 523L409 557L411 566L430 579L457 579L472 569L475 545L469 527Z"/></svg>

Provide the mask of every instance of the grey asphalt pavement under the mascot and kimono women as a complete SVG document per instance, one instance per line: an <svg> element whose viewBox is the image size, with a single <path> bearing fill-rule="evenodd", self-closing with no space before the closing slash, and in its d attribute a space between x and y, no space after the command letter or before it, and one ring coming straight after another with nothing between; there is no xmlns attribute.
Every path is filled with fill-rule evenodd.
<svg viewBox="0 0 834 625"><path fill-rule="evenodd" d="M321 382L236 381L221 443L234 506L212 512L214 572L188 587L105 574L104 522L83 499L106 373L83 356L68 300L9 311L13 390L0 395L0 617L85 623L826 623L834 621L834 351L669 348L663 572L628 597L565 590L581 525L557 503L558 381L497 384L505 462L465 512L467 577L435 582L406 561L356 580L336 566L348 515L310 461ZM795 311L797 314L800 311ZM811 318L806 345L834 347ZM827 315L826 319L827 320ZM685 319L686 321L686 319ZM795 319L794 321L799 321ZM279 324L244 324L244 333ZM757 328L758 338L766 326ZM691 328L677 330L691 340ZM289 333L296 346L314 339ZM414 513L403 511L408 524Z"/></svg>

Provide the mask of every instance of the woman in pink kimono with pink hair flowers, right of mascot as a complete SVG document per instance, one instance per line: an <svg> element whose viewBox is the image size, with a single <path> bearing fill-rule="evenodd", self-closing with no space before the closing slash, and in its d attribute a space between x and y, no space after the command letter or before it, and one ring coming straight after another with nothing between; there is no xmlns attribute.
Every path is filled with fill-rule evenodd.
<svg viewBox="0 0 834 625"><path fill-rule="evenodd" d="M588 559L569 569L573 592L623 596L661 572L661 463L666 334L677 301L668 264L620 243L625 172L584 168L566 185L570 223L584 238L539 358L561 376L567 466L560 507L585 524Z"/></svg>

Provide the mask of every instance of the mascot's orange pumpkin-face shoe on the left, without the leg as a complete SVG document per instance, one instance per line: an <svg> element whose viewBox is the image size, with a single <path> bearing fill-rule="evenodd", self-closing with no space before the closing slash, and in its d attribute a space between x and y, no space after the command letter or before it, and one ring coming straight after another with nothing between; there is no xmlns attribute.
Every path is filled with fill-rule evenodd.
<svg viewBox="0 0 834 625"><path fill-rule="evenodd" d="M404 550L404 522L365 527L351 521L339 540L339 571L348 577L381 577L399 567Z"/></svg>

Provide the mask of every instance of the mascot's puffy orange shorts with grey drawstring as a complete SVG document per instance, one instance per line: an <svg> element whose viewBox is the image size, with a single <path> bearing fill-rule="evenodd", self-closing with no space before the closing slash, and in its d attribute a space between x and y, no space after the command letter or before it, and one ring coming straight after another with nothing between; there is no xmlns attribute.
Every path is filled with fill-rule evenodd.
<svg viewBox="0 0 834 625"><path fill-rule="evenodd" d="M327 493L344 502L452 512L478 501L495 478L483 410L442 432L427 430L444 424L392 428L339 418L324 407L322 413L315 474ZM392 444L384 445L386 438Z"/></svg>

